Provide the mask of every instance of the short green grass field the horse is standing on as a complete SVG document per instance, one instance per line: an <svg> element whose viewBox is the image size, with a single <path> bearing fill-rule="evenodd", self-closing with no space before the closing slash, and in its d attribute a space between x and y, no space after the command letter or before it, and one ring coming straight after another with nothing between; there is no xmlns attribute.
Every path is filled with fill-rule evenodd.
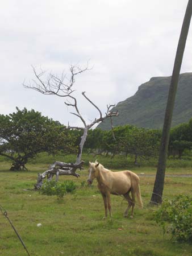
<svg viewBox="0 0 192 256"><path fill-rule="evenodd" d="M25 172L9 171L10 163L0 163L0 204L7 210L30 255L131 255L131 256L188 256L192 245L162 237L156 224L156 208L148 206L155 176L155 167L134 167L140 178L144 209L136 207L133 219L124 218L127 203L120 196L111 196L113 217L103 220L104 207L97 181L87 187L87 169L81 177L62 176L60 181L73 180L77 189L58 201L32 189L37 172L47 164L30 164ZM107 166L106 166L107 167ZM170 166L167 174L192 174L192 168ZM172 199L178 194L191 195L191 177L166 177L164 196ZM42 225L38 228L37 224ZM0 212L0 255L27 255L9 222Z"/></svg>

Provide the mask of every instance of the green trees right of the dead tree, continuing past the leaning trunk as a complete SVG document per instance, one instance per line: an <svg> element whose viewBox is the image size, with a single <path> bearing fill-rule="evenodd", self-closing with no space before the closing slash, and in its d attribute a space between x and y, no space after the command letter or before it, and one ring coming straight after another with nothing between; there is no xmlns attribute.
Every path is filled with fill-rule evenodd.
<svg viewBox="0 0 192 256"><path fill-rule="evenodd" d="M140 159L158 156L162 130L139 128L124 125L103 131L90 130L85 149L97 154L132 156L135 163ZM170 130L168 157L181 159L185 152L192 149L192 118Z"/></svg>

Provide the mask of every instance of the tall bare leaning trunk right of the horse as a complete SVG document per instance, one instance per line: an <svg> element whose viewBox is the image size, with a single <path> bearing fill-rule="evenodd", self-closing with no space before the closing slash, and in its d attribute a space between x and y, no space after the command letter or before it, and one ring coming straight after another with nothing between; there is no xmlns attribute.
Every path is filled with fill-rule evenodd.
<svg viewBox="0 0 192 256"><path fill-rule="evenodd" d="M178 79L180 75L183 53L185 50L187 34L190 26L191 14L192 14L192 0L189 0L186 8L183 24L182 24L180 39L177 47L176 59L174 61L172 80L170 82L170 87L169 87L168 102L165 110L160 154L158 159L155 184L154 184L153 193L151 197L151 204L160 204L162 202L162 192L164 189L165 168L166 168L166 159L167 159L167 153L168 153L170 126L172 123L172 115L173 115L174 102L175 102L176 92L177 92L177 84L178 84Z"/></svg>

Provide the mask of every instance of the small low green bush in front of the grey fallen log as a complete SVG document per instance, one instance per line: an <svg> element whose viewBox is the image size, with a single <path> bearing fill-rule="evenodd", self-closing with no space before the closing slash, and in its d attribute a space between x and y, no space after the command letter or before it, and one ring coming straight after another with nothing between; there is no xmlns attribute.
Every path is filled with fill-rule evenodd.
<svg viewBox="0 0 192 256"><path fill-rule="evenodd" d="M54 180L46 181L40 189L40 193L47 196L56 195L57 199L62 199L66 193L71 193L76 189L76 184L72 180L65 180L59 183Z"/></svg>

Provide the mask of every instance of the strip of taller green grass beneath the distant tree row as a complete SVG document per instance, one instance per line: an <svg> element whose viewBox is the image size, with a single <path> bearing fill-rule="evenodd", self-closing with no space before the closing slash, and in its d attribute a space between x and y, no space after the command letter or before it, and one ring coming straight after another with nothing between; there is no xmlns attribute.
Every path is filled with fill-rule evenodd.
<svg viewBox="0 0 192 256"><path fill-rule="evenodd" d="M102 163L103 166L106 166L106 168L110 169L118 169L118 170L152 170L152 172L156 172L157 162L158 159L149 159L149 160L141 160L139 161L139 166L135 166L134 159L133 158L126 158L124 155L116 155L114 158L111 158L111 156L104 156L104 155L97 155L94 154L83 154L82 160L84 160L85 164L84 166L87 167L89 164L89 161L95 162L95 160L98 160L98 162ZM26 167L28 170L31 170L31 168L35 168L35 165L38 164L36 167L37 169L40 167L41 169L46 170L49 166L49 164L54 163L56 161L61 161L65 163L74 163L76 161L76 155L48 155L46 152L40 153L36 156L35 159L28 159L28 163L26 164ZM5 170L9 170L11 167L11 160L0 156L0 164L2 167L5 168ZM192 170L192 158L190 156L183 156L182 159L168 159L167 161L167 171L169 170L179 170L180 172L184 168L185 170L189 169L191 172ZM181 171L182 172L182 171ZM192 172L191 172L192 173Z"/></svg>

